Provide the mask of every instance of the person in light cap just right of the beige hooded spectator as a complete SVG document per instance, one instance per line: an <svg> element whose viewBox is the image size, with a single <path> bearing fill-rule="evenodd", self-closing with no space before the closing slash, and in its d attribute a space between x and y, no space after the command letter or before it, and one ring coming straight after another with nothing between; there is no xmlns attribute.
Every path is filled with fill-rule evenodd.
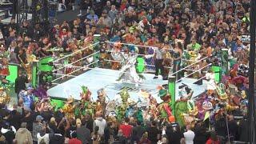
<svg viewBox="0 0 256 144"><path fill-rule="evenodd" d="M38 142L37 134L40 133L44 127L42 124L42 120L43 120L42 116L38 115L35 118L35 122L33 122L32 138L34 142Z"/></svg>

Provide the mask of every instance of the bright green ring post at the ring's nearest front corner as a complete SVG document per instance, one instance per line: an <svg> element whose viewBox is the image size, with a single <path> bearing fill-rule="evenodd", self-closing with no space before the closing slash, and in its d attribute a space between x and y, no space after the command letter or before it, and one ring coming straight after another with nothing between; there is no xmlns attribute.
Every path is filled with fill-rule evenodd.
<svg viewBox="0 0 256 144"><path fill-rule="evenodd" d="M168 79L168 88L169 88L169 94L170 94L170 98L171 98L171 110L172 110L172 114L175 114L175 110L174 110L174 104L175 104L175 84L176 84L176 77L175 76L170 76Z"/></svg>

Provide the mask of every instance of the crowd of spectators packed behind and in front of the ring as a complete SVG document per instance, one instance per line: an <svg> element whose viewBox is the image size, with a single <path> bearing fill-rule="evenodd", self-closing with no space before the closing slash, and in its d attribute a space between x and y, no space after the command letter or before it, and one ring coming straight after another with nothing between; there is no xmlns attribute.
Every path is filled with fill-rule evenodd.
<svg viewBox="0 0 256 144"><path fill-rule="evenodd" d="M181 42L182 52L189 50L212 58L220 58L221 50L228 49L230 60L248 65L244 59L248 58L249 45L242 42L241 37L249 34L249 0L80 2L82 14L78 18L49 30L43 29L40 23L33 27L25 21L18 29L14 19L7 25L0 21L0 70L6 61L27 64L53 55L55 53L50 51L53 47L62 47L64 53L74 52L93 43L94 34L101 34L102 41L167 47L166 50L176 49L177 42ZM116 47L130 53L150 53L149 48L140 46ZM92 51L82 52L80 57ZM170 63L166 60L162 65ZM2 81L5 76L2 74ZM218 144L220 138L217 135L226 137L227 131L235 140L246 141L245 131L248 129L246 119L237 123L232 114L226 115L228 130L224 118L217 122L216 132L208 134L205 122L198 122L193 128L189 125L180 128L168 122L162 125L159 119L150 119L143 124L133 117L124 118L123 122L109 122L97 113L94 118L86 115L70 120L62 110L54 112L33 107L25 110L21 104L14 105L11 111L1 104L0 143Z"/></svg>

